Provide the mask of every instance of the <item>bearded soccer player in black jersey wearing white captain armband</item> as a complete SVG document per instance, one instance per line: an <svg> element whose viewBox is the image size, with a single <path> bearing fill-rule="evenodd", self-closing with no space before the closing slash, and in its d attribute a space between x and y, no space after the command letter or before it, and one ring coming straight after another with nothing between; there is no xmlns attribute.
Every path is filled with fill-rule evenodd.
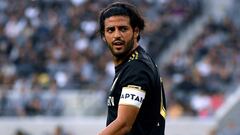
<svg viewBox="0 0 240 135"><path fill-rule="evenodd" d="M101 11L99 25L115 64L107 126L99 135L164 135L163 83L154 61L138 44L143 18L134 5L115 2Z"/></svg>

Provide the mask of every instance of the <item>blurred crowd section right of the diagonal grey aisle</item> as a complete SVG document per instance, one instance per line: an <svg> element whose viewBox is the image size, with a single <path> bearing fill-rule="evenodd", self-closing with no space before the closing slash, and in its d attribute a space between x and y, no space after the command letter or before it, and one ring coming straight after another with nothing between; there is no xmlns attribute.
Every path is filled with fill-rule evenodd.
<svg viewBox="0 0 240 135"><path fill-rule="evenodd" d="M210 17L185 52L176 52L162 69L168 82L169 115L206 118L240 82L240 2L222 18Z"/></svg>

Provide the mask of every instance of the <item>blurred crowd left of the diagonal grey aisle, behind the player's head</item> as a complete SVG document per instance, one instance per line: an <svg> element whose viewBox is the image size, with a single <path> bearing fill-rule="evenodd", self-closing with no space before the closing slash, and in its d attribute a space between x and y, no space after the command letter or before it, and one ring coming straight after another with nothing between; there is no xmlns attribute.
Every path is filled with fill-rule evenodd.
<svg viewBox="0 0 240 135"><path fill-rule="evenodd" d="M59 90L106 90L114 76L98 14L108 0L0 0L0 115L62 115ZM132 0L154 57L201 14L199 0Z"/></svg>

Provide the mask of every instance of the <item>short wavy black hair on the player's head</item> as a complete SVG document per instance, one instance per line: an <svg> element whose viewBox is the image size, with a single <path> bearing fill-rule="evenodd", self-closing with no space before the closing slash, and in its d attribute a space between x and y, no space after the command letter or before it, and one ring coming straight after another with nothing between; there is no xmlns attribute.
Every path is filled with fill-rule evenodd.
<svg viewBox="0 0 240 135"><path fill-rule="evenodd" d="M141 32L145 27L144 19L141 17L137 8L127 2L114 2L108 5L105 9L100 12L99 16L99 30L101 36L104 35L104 21L106 18L111 16L128 16L130 19L130 25L133 29L139 28ZM137 37L137 41L140 39L140 34Z"/></svg>

